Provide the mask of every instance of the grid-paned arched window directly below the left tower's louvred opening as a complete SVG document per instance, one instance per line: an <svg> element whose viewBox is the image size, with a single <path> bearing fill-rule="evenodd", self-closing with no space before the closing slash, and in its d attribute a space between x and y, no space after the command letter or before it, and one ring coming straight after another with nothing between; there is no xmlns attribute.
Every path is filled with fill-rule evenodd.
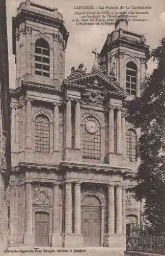
<svg viewBox="0 0 165 256"><path fill-rule="evenodd" d="M45 116L37 116L35 120L35 151L49 152L49 120Z"/></svg>

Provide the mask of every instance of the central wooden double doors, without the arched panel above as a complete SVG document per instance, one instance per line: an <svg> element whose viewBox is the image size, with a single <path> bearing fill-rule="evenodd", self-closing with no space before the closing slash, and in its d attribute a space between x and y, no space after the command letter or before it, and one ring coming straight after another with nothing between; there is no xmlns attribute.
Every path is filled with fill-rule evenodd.
<svg viewBox="0 0 165 256"><path fill-rule="evenodd" d="M81 226L84 246L100 246L100 207L82 206Z"/></svg>

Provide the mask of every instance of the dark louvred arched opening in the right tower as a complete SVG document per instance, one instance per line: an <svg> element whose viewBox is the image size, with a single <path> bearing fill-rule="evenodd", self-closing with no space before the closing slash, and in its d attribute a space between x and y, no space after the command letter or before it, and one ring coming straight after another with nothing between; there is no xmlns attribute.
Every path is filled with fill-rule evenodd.
<svg viewBox="0 0 165 256"><path fill-rule="evenodd" d="M137 87L137 66L132 61L126 66L126 92L129 95L136 95Z"/></svg>

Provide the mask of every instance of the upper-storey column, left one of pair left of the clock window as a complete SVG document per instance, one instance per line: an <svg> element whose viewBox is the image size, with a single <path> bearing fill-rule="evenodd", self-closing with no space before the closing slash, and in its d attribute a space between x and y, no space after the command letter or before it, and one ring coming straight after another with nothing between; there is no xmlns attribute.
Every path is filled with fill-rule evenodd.
<svg viewBox="0 0 165 256"><path fill-rule="evenodd" d="M72 147L72 108L71 100L66 102L66 148Z"/></svg>

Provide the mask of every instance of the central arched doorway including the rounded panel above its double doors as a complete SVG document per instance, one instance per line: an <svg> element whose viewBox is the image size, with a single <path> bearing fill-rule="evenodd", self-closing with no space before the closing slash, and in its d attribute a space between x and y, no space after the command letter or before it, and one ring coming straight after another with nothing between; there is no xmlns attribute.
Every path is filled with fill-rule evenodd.
<svg viewBox="0 0 165 256"><path fill-rule="evenodd" d="M81 203L81 228L84 246L100 246L101 207L94 196L87 196Z"/></svg>

